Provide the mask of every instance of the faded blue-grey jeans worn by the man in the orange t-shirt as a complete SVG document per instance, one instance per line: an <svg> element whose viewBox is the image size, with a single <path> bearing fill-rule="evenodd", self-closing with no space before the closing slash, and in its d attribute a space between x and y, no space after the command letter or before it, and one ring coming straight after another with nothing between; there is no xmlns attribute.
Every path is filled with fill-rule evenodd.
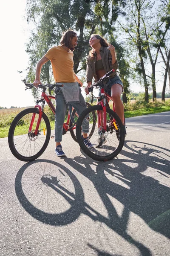
<svg viewBox="0 0 170 256"><path fill-rule="evenodd" d="M77 111L77 114L80 115L83 110L87 108L85 104L85 99L82 96L82 93L79 93L79 103L71 103L73 108ZM55 114L55 142L62 141L62 126L65 120L65 113L68 108L68 104L65 103L61 90L56 94L56 114ZM82 125L82 132L89 132L89 122L85 120L84 125Z"/></svg>

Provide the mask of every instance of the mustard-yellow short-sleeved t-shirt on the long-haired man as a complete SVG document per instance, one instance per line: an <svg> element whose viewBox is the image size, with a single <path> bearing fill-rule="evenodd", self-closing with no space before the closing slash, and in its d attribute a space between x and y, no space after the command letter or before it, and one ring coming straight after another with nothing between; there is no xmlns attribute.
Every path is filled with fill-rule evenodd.
<svg viewBox="0 0 170 256"><path fill-rule="evenodd" d="M48 50L45 57L51 61L54 80L56 83L76 82L73 65L73 52L67 52L60 45Z"/></svg>

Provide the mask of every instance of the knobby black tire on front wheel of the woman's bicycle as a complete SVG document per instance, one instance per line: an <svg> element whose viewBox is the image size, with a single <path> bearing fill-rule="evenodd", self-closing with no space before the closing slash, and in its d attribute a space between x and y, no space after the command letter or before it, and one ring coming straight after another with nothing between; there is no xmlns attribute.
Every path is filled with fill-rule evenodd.
<svg viewBox="0 0 170 256"><path fill-rule="evenodd" d="M82 151L84 151L85 154L87 154L89 157L91 157L94 160L97 160L97 161L111 160L120 153L125 142L122 122L119 119L119 116L117 116L117 114L113 110L111 110L110 108L106 108L107 132L103 133L102 136L104 135L106 136L105 139L108 145L104 145L101 148L95 148L95 144L97 143L97 140L101 136L99 134L100 132L98 128L98 122L96 122L95 131L90 140L93 147L88 148L85 145L82 138L81 126L82 126L83 120L87 119L87 116L89 116L89 120L91 119L91 112L93 111L96 113L97 111L102 111L102 106L95 105L95 106L92 106L91 108L85 109L79 116L79 119L77 120L76 135L77 135L79 146L82 149ZM111 121L112 121L111 116L114 122L117 124L117 125L114 125L114 130L111 127ZM118 132L118 130L119 130L120 140L118 140L116 136L116 132Z"/></svg>

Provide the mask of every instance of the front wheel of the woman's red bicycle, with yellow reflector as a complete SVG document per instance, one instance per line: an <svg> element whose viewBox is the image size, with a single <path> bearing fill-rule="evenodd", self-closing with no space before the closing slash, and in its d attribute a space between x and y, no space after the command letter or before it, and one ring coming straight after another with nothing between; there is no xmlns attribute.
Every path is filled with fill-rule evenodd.
<svg viewBox="0 0 170 256"><path fill-rule="evenodd" d="M89 120L89 127L91 127L92 113L94 112L97 116L96 125L90 138L90 143L85 144L82 138L82 124L87 124L87 120ZM97 161L107 161L116 157L125 142L123 125L119 116L110 108L106 108L106 131L103 129L103 116L102 106L96 105L87 108L79 116L76 127L80 148L85 154Z"/></svg>

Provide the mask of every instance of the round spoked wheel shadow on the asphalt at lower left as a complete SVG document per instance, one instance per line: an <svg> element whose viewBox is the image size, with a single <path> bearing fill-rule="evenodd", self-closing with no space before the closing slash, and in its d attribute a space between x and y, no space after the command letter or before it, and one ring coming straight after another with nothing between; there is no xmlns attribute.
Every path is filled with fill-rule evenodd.
<svg viewBox="0 0 170 256"><path fill-rule="evenodd" d="M84 194L77 177L51 160L24 164L16 175L15 192L20 204L33 218L49 225L67 225L75 221L84 206Z"/></svg>

